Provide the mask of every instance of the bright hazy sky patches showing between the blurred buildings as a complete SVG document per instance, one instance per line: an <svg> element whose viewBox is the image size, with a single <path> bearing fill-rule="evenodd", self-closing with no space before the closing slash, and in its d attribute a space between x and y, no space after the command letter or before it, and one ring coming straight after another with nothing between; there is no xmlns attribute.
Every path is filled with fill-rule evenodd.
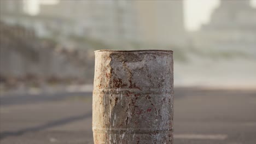
<svg viewBox="0 0 256 144"><path fill-rule="evenodd" d="M44 3L54 3L58 0L26 0L31 14L38 13L39 1ZM174 0L169 0L174 1ZM176 0L179 1L179 0ZM228 0L226 0L228 1ZM229 0L231 1L231 0ZM247 0L241 0L247 1ZM256 8L256 0L251 0L251 4ZM219 0L184 0L184 21L185 28L189 31L195 31L200 28L202 23L210 20L210 15L214 8L218 7Z"/></svg>

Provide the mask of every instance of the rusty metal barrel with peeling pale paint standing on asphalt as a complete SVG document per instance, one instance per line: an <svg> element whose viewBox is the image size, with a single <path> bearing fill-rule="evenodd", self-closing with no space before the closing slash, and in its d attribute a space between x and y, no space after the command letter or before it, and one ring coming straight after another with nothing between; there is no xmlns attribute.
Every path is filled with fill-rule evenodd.
<svg viewBox="0 0 256 144"><path fill-rule="evenodd" d="M173 143L170 50L95 51L94 143Z"/></svg>

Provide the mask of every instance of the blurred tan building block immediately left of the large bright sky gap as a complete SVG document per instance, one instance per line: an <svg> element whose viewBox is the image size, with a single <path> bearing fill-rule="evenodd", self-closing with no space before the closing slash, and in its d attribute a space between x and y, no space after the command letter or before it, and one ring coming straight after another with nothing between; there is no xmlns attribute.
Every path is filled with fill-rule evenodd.
<svg viewBox="0 0 256 144"><path fill-rule="evenodd" d="M136 8L144 43L185 44L183 1L136 1Z"/></svg>

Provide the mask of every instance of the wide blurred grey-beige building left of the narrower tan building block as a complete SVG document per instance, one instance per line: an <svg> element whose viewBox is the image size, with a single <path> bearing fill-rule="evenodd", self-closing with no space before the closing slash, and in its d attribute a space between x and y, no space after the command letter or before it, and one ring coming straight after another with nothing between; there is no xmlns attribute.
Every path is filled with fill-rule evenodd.
<svg viewBox="0 0 256 144"><path fill-rule="evenodd" d="M137 40L133 1L60 1L41 5L40 15L73 22L66 30L107 43Z"/></svg>

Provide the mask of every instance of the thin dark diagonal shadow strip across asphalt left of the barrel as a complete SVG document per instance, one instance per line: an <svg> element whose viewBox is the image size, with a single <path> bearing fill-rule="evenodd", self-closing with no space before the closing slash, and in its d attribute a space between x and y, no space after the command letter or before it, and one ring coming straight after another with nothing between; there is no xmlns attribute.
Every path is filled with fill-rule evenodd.
<svg viewBox="0 0 256 144"><path fill-rule="evenodd" d="M68 117L65 119L59 119L57 121L52 121L49 123L45 123L43 125L38 125L36 127L20 129L18 131L3 131L2 133L0 133L0 140L3 140L5 138L7 138L8 136L21 136L25 133L36 132L36 131L40 131L40 130L44 130L44 129L48 129L48 128L57 127L60 125L65 125L65 124L68 124L71 122L79 121L81 119L89 118L91 116L92 116L92 113L90 112L90 113L85 113L85 114L79 115L79 116Z"/></svg>

